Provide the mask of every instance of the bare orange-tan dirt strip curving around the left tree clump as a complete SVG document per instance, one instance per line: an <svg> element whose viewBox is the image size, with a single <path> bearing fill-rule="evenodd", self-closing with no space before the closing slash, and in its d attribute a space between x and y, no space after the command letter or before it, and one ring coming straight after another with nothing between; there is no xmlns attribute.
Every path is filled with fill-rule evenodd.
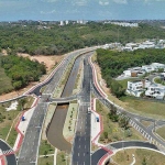
<svg viewBox="0 0 165 165"><path fill-rule="evenodd" d="M6 51L4 51L3 54L6 54ZM31 61L37 61L38 63L44 63L45 64L47 74L43 75L41 77L40 81L45 80L46 77L48 76L48 74L52 72L53 67L55 65L57 65L66 56L66 55L58 55L58 56L56 56L56 55L52 55L52 56L36 55L36 56L31 56L29 54L18 54L18 55L22 56L22 57L29 57ZM31 89L36 84L38 84L38 81L31 82L29 86L26 86L25 88L20 89L18 91L12 91L12 92L9 92L9 94L1 95L0 100L3 101L3 100L8 100L8 99L11 99L11 98L18 97L18 96L24 94L26 90Z"/></svg>

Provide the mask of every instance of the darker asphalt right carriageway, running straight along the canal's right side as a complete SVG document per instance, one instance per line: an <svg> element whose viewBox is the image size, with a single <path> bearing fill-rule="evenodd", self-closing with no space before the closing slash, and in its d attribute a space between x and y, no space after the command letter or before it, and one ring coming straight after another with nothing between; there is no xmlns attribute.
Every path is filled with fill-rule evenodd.
<svg viewBox="0 0 165 165"><path fill-rule="evenodd" d="M82 90L79 95L79 112L77 119L77 129L73 146L72 165L90 165L90 114L88 108L90 107L90 78L91 70L88 67L88 54L84 61L84 80Z"/></svg>

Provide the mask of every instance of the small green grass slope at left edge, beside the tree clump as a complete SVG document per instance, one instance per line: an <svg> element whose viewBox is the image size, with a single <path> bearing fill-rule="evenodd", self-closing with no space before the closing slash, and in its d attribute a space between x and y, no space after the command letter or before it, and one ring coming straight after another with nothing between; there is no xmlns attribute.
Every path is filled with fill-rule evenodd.
<svg viewBox="0 0 165 165"><path fill-rule="evenodd" d="M0 95L13 90L11 79L6 75L4 69L0 66Z"/></svg>

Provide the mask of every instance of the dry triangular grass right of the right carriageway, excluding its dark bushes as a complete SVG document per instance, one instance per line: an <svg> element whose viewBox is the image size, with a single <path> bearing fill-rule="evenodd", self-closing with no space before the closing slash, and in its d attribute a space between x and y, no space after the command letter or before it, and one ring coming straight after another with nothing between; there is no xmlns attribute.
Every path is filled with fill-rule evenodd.
<svg viewBox="0 0 165 165"><path fill-rule="evenodd" d="M108 132L108 139L103 138L103 132L100 135L100 143L109 143L121 140L144 140L144 138L133 128L130 127L132 132L131 136L127 135L127 131L121 129L118 122L112 122L109 117L109 109L105 107L100 101L97 100L96 109L99 114L101 114L103 120L103 132Z"/></svg>

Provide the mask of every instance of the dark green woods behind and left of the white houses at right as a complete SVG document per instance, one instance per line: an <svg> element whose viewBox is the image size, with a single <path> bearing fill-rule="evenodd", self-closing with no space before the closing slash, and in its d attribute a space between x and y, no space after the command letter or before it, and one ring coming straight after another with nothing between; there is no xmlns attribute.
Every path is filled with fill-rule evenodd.
<svg viewBox="0 0 165 165"><path fill-rule="evenodd" d="M101 67L101 74L111 88L111 92L118 98L124 96L125 88L121 82L112 79L123 73L124 69L151 63L165 63L165 50L138 50L134 52L114 52L97 50L97 61ZM125 86L125 85L124 85Z"/></svg>

